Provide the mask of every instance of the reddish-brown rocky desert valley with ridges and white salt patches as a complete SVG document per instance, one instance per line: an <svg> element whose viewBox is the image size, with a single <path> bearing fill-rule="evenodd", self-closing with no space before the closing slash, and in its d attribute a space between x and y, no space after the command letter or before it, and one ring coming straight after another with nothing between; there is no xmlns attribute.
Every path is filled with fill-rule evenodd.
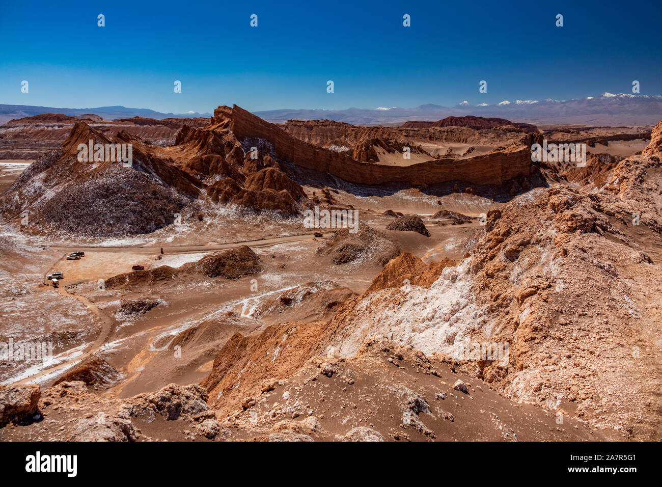
<svg viewBox="0 0 662 487"><path fill-rule="evenodd" d="M0 441L659 440L661 157L662 122L7 121Z"/></svg>

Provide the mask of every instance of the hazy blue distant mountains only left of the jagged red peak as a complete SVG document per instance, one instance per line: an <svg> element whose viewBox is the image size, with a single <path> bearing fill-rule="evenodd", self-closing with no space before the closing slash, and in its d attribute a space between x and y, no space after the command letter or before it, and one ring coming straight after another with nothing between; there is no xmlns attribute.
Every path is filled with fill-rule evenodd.
<svg viewBox="0 0 662 487"><path fill-rule="evenodd" d="M32 117L42 113L62 113L70 117L79 115L99 115L106 120L130 119L132 117L146 117L150 119L171 119L171 118L194 118L211 117L211 113L161 113L148 108L126 108L120 105L114 107L96 107L96 108L55 108L55 107L33 107L31 105L0 105L0 124L6 123L11 119L22 119L23 117Z"/></svg>

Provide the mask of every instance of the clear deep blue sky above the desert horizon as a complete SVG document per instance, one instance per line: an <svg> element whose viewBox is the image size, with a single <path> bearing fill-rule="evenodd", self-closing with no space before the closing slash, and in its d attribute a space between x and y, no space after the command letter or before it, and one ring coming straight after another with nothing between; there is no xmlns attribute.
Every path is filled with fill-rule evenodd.
<svg viewBox="0 0 662 487"><path fill-rule="evenodd" d="M577 3L2 0L0 103L173 113L453 106L627 93L633 80L662 94L662 2Z"/></svg>

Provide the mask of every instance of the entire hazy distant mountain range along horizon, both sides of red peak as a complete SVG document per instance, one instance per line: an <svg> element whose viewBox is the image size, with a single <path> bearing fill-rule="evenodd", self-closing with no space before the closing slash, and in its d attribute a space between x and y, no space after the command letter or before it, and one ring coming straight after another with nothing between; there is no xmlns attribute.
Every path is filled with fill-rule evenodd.
<svg viewBox="0 0 662 487"><path fill-rule="evenodd" d="M122 106L96 108L32 107L30 105L0 105L0 123L42 113L62 113L76 117L93 113L107 120L131 117L152 119L210 117L210 113L161 113L144 108ZM477 115L500 117L520 123L581 124L581 125L655 125L662 120L662 95L634 95L630 93L602 93L596 97L571 100L504 100L495 105L471 105L462 101L454 107L420 105L415 108L377 107L375 109L348 108L279 109L256 111L255 115L272 123L288 120L334 120L354 125L400 125L407 121L437 121L444 117Z"/></svg>

